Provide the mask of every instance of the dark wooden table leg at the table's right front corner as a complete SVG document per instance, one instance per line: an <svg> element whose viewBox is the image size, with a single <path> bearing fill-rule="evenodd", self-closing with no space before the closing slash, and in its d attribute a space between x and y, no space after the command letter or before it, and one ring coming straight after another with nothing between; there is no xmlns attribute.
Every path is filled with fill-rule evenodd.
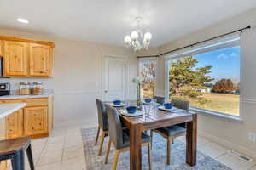
<svg viewBox="0 0 256 170"><path fill-rule="evenodd" d="M187 122L187 152L186 152L186 162L192 167L196 165L196 143L197 143L197 115L193 115L193 121Z"/></svg>

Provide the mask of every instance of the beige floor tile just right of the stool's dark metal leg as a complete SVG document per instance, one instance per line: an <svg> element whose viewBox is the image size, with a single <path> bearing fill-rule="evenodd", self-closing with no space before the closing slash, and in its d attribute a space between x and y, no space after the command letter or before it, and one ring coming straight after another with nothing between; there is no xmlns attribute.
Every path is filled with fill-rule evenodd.
<svg viewBox="0 0 256 170"><path fill-rule="evenodd" d="M50 152L43 152L38 159L37 166L43 166L45 164L61 161L63 150L54 150Z"/></svg>

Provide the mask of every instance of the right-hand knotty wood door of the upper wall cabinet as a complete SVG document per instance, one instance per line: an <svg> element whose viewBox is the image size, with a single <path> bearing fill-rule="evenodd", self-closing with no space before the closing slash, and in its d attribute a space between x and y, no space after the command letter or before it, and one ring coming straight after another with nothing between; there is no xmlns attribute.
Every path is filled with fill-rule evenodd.
<svg viewBox="0 0 256 170"><path fill-rule="evenodd" d="M30 75L49 77L51 74L52 49L46 45L30 44Z"/></svg>

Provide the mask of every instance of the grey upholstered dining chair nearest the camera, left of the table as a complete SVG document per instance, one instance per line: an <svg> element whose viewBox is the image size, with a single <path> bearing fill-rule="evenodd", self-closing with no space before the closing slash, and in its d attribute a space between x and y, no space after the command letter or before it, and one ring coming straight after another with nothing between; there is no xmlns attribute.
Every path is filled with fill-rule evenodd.
<svg viewBox="0 0 256 170"><path fill-rule="evenodd" d="M111 107L110 105L106 105L106 108L108 112L109 140L105 164L108 163L109 150L111 148L111 144L113 144L115 148L115 153L112 169L116 170L119 160L119 154L126 150L130 150L129 130L122 128L119 114L115 108ZM142 145L148 145L148 166L149 169L151 169L150 136L148 136L148 134L146 133L142 133Z"/></svg>

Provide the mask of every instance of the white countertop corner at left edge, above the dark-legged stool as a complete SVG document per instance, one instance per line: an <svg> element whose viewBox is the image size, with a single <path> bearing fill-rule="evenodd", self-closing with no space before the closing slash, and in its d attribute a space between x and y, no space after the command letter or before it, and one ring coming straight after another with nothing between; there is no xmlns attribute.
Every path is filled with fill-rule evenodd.
<svg viewBox="0 0 256 170"><path fill-rule="evenodd" d="M19 111L26 106L26 103L15 103L15 104L0 104L0 119L4 116L9 116L15 111Z"/></svg>

